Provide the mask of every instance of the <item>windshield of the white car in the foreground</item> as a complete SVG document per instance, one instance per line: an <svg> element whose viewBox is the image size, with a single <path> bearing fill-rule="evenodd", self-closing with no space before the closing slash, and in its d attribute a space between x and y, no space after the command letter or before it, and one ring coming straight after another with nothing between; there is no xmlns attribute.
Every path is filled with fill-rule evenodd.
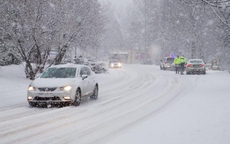
<svg viewBox="0 0 230 144"><path fill-rule="evenodd" d="M41 78L74 78L76 68L49 68Z"/></svg>

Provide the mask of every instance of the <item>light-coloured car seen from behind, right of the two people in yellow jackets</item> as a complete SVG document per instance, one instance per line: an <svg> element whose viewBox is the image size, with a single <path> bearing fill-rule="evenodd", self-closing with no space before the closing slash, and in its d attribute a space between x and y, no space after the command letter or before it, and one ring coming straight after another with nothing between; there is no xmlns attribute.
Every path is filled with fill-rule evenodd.
<svg viewBox="0 0 230 144"><path fill-rule="evenodd" d="M187 63L186 74L206 74L204 61L202 59L190 59Z"/></svg>

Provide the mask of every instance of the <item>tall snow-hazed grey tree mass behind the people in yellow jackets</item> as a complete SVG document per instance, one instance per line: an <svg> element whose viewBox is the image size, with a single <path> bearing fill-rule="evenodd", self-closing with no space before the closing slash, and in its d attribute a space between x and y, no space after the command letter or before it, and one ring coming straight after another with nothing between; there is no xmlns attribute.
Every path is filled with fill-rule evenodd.
<svg viewBox="0 0 230 144"><path fill-rule="evenodd" d="M143 37L146 48L158 45L161 57L178 54L185 55L188 59L202 58L207 62L213 57L220 57L223 47L221 37L225 31L221 29L218 19L204 2L199 0L135 0L134 2L142 12L138 20L144 23Z"/></svg>

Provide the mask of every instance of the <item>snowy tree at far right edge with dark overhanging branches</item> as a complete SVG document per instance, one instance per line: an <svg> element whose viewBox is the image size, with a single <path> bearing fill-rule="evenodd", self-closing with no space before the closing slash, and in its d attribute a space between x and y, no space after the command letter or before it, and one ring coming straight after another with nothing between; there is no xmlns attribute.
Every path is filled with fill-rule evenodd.
<svg viewBox="0 0 230 144"><path fill-rule="evenodd" d="M218 58L221 60L222 68L230 69L230 49L229 49L229 30L230 30L230 3L226 0L181 0L184 5L193 9L202 7L205 9L206 17L203 19L207 24L212 39L206 35L206 44L211 45L206 49L209 56L208 60ZM204 13L204 12L203 12ZM201 16L203 13L199 13ZM210 28L210 29L207 29ZM218 42L217 42L218 40ZM219 45L216 45L216 44ZM221 44L221 45L220 45ZM211 53L212 54L211 54Z"/></svg>

